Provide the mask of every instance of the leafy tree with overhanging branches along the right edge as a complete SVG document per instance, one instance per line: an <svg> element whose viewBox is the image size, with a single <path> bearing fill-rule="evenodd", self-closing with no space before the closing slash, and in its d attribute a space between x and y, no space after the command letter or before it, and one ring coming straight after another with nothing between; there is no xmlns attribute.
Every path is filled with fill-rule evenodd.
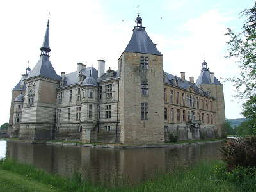
<svg viewBox="0 0 256 192"><path fill-rule="evenodd" d="M237 133L244 136L256 134L256 3L253 8L240 14L241 17L247 17L243 31L235 34L228 28L228 33L225 34L230 36L230 41L227 42L230 47L228 57L239 60L237 67L240 68L240 74L226 80L237 88L236 96L247 100L243 104L242 114L248 120L237 127Z"/></svg>

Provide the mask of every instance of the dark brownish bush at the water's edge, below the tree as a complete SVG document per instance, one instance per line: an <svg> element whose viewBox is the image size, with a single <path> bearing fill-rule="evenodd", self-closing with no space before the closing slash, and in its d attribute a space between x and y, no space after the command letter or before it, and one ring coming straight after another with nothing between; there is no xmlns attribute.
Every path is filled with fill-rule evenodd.
<svg viewBox="0 0 256 192"><path fill-rule="evenodd" d="M221 154L229 172L237 166L256 167L256 137L229 139L221 145Z"/></svg>

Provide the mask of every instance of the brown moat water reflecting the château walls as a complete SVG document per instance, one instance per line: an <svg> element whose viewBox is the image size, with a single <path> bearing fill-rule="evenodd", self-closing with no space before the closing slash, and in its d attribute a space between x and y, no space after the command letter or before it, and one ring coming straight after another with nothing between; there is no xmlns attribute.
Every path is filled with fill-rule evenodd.
<svg viewBox="0 0 256 192"><path fill-rule="evenodd" d="M168 173L199 161L220 159L221 143L179 148L89 148L10 143L0 140L0 157L34 164L70 177L77 170L95 184L138 184L157 172Z"/></svg>

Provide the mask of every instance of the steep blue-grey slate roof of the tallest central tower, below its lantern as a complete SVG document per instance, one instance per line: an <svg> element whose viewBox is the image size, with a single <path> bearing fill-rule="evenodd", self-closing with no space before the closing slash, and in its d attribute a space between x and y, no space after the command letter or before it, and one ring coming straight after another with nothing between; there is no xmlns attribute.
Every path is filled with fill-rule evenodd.
<svg viewBox="0 0 256 192"><path fill-rule="evenodd" d="M145 29L136 28L134 28L131 40L124 52L138 52L163 56L163 54L157 50L156 45L154 45Z"/></svg>

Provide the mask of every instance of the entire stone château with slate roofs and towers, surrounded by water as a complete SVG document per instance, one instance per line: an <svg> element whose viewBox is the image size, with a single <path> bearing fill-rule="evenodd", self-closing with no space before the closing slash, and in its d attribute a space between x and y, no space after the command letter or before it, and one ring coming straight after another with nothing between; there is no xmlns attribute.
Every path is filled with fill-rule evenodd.
<svg viewBox="0 0 256 192"><path fill-rule="evenodd" d="M49 60L49 22L38 63L26 69L12 90L9 131L20 140L102 143L164 143L222 136L223 85L202 63L194 77L163 71L163 54L142 19L118 58L118 70L98 60L98 70L77 63L77 71L56 74Z"/></svg>

